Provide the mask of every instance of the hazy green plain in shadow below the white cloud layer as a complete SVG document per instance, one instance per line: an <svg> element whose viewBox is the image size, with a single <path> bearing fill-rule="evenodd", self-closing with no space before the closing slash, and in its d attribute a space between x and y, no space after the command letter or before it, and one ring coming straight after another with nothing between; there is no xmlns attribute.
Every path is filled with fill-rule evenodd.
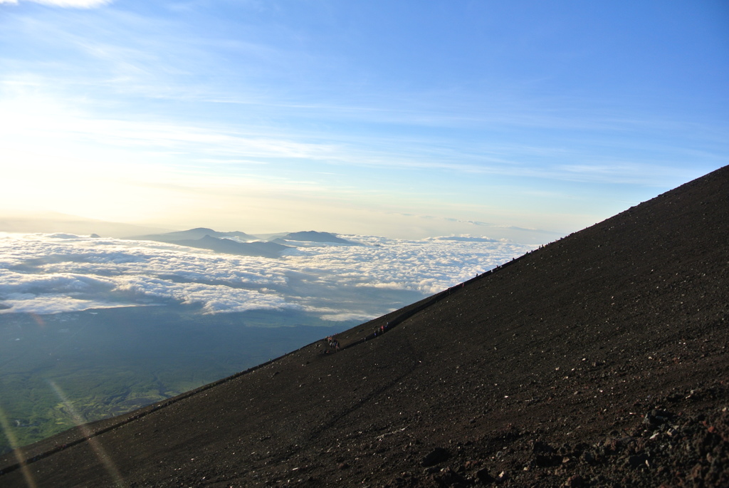
<svg viewBox="0 0 729 488"><path fill-rule="evenodd" d="M186 306L0 314L0 454L193 390L356 325Z"/></svg>

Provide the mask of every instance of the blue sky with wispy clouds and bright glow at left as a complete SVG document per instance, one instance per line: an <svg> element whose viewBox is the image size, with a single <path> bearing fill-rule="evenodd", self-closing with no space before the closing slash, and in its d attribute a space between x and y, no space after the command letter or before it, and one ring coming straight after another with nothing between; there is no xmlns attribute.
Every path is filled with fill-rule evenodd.
<svg viewBox="0 0 729 488"><path fill-rule="evenodd" d="M726 1L0 0L0 209L564 235L728 164L728 87Z"/></svg>

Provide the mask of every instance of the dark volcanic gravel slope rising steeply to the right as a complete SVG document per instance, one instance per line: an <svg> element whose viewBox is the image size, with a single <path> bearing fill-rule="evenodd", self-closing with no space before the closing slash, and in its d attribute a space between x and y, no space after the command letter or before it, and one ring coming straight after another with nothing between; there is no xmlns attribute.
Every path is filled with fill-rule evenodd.
<svg viewBox="0 0 729 488"><path fill-rule="evenodd" d="M725 167L0 485L729 486L728 224Z"/></svg>

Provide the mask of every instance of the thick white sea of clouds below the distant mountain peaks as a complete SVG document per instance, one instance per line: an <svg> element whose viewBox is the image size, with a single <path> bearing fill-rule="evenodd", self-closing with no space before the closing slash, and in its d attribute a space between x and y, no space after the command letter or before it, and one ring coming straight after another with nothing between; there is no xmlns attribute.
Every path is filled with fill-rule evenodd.
<svg viewBox="0 0 729 488"><path fill-rule="evenodd" d="M471 236L342 237L364 245L309 243L266 258L153 241L0 233L0 313L182 303L209 314L296 309L323 320L364 320L534 249Z"/></svg>

